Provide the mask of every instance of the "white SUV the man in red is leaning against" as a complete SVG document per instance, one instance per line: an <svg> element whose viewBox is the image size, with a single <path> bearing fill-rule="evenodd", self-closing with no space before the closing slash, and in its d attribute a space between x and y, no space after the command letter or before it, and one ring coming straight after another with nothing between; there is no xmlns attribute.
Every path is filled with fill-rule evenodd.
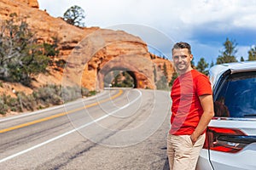
<svg viewBox="0 0 256 170"><path fill-rule="evenodd" d="M214 111L198 170L256 169L256 61L210 69Z"/></svg>

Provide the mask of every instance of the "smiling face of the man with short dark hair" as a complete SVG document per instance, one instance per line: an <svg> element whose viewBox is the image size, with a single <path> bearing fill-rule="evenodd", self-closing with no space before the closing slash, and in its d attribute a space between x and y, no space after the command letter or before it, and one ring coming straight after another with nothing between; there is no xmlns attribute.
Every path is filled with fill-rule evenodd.
<svg viewBox="0 0 256 170"><path fill-rule="evenodd" d="M183 74L190 71L190 61L193 59L193 55L189 54L189 49L174 48L172 51L172 59L177 73Z"/></svg>

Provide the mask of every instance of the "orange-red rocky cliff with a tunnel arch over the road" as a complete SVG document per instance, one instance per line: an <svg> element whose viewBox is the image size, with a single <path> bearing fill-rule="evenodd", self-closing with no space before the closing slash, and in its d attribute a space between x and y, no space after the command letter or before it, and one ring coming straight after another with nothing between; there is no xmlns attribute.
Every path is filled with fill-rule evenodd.
<svg viewBox="0 0 256 170"><path fill-rule="evenodd" d="M39 42L57 38L60 54L65 59L64 71L49 68L51 74L39 75L36 86L45 83L80 84L90 90L105 86L105 75L110 71L128 71L135 79L137 88L155 88L154 69L163 74L166 63L168 82L172 79L172 63L148 53L148 47L141 38L125 31L100 29L99 27L79 28L68 25L61 18L50 16L38 8L37 0L1 0L0 19L8 19L16 13L25 18ZM160 77L160 76L159 76Z"/></svg>

